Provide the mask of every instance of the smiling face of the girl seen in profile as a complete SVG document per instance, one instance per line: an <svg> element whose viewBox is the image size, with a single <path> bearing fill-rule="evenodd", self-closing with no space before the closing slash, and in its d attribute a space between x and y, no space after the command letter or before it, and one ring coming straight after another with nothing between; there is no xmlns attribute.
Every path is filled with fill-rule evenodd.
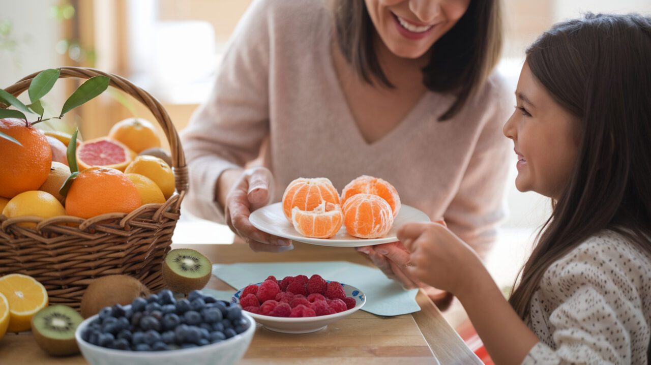
<svg viewBox="0 0 651 365"><path fill-rule="evenodd" d="M504 126L518 155L519 191L559 198L579 152L579 123L534 77L525 62L516 89L516 111Z"/></svg>

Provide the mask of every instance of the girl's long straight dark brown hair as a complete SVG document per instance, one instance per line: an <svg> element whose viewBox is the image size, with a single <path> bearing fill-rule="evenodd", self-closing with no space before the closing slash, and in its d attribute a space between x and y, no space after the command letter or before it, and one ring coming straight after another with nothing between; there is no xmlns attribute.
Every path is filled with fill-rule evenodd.
<svg viewBox="0 0 651 365"><path fill-rule="evenodd" d="M554 25L527 64L581 121L574 172L537 237L509 302L521 318L553 262L612 230L651 254L651 19L587 14Z"/></svg>

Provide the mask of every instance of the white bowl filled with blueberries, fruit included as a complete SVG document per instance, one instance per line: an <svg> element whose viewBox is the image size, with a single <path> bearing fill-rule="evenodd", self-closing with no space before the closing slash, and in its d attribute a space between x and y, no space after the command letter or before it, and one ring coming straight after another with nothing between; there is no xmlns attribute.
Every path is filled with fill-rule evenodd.
<svg viewBox="0 0 651 365"><path fill-rule="evenodd" d="M197 290L176 300L162 290L103 308L75 336L91 365L226 365L240 361L254 333L254 319L239 305Z"/></svg>

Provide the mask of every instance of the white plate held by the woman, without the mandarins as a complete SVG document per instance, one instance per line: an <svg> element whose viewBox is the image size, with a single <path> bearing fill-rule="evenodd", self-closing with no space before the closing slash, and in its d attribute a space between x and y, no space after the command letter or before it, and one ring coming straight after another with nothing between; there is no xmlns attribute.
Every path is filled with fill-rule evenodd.
<svg viewBox="0 0 651 365"><path fill-rule="evenodd" d="M283 203L275 203L264 206L256 211L253 211L249 216L249 221L255 228L272 234L273 236L292 239L294 241L311 243L312 245L320 246L336 246L336 247L361 247L370 245L380 245L380 243L390 243L398 241L396 234L398 228L404 223L408 222L429 222L430 217L416 208L402 205L398 215L393 221L391 230L385 237L381 238L358 238L353 237L346 232L346 227L341 226L341 229L335 236L330 238L311 238L305 237L294 229L294 226L283 213Z"/></svg>

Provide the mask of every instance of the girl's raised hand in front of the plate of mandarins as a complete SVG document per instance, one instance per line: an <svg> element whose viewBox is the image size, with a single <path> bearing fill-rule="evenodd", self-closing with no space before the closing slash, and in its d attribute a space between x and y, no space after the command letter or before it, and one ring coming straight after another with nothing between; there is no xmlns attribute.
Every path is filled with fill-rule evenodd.
<svg viewBox="0 0 651 365"><path fill-rule="evenodd" d="M405 265L410 277L456 296L483 267L475 251L443 224L407 223L398 230L398 239L411 252Z"/></svg>

